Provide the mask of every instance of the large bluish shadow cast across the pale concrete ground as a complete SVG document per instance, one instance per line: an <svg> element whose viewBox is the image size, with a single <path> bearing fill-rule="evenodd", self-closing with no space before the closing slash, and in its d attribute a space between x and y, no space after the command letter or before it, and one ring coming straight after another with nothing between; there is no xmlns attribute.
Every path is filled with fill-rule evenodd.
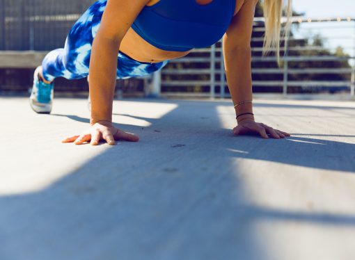
<svg viewBox="0 0 355 260"><path fill-rule="evenodd" d="M136 117L152 124L123 127L140 143L118 142L38 193L0 197L0 259L275 259L258 222L355 226L355 216L255 206L238 169L251 159L352 172L353 144L234 137L215 106Z"/></svg>

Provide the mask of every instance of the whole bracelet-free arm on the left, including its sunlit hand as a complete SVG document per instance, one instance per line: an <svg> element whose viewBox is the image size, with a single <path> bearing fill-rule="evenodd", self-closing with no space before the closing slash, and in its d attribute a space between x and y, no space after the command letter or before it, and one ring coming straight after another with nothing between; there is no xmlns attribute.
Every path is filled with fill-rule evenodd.
<svg viewBox="0 0 355 260"><path fill-rule="evenodd" d="M112 125L112 102L116 83L117 57L120 42L149 0L108 0L90 56L90 129L81 135L63 140L80 145L90 141L97 145L104 139L109 145L115 140L138 141L138 136Z"/></svg>

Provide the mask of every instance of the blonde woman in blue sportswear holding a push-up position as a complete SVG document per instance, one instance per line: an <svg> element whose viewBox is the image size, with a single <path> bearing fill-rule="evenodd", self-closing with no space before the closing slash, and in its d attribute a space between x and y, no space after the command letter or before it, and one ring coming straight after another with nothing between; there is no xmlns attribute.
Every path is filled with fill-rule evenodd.
<svg viewBox="0 0 355 260"><path fill-rule="evenodd" d="M265 51L277 47L283 0L265 0ZM288 13L290 13L288 0ZM160 70L169 59L214 44L223 36L226 76L237 115L235 135L289 133L255 122L251 91L251 31L258 0L99 0L70 30L64 49L51 51L34 74L31 107L50 113L53 80L90 74L90 128L63 143L138 141L112 124L116 79Z"/></svg>

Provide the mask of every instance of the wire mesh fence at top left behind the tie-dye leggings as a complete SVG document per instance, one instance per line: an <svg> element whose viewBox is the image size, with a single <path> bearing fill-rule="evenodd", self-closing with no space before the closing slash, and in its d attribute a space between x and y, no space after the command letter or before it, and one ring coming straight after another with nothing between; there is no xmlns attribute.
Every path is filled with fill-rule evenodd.
<svg viewBox="0 0 355 260"><path fill-rule="evenodd" d="M0 50L63 47L72 24L93 0L0 0Z"/></svg>

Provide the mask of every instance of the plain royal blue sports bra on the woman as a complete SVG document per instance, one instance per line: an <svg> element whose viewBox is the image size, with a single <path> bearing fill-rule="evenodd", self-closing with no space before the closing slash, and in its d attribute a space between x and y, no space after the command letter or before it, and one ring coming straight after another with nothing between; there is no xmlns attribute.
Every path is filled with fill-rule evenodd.
<svg viewBox="0 0 355 260"><path fill-rule="evenodd" d="M153 46L166 51L189 51L211 46L228 29L235 0L160 0L145 6L132 29Z"/></svg>

